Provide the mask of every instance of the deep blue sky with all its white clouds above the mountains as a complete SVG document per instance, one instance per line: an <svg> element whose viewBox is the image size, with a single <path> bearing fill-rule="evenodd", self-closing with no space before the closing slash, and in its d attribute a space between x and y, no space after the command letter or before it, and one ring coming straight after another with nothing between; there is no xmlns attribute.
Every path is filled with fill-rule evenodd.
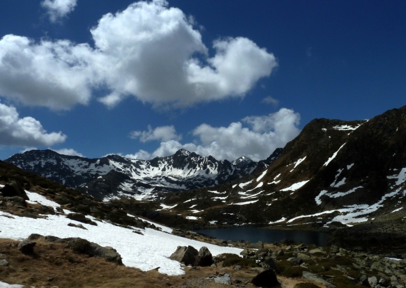
<svg viewBox="0 0 406 288"><path fill-rule="evenodd" d="M0 159L264 159L404 105L406 2L6 0Z"/></svg>

